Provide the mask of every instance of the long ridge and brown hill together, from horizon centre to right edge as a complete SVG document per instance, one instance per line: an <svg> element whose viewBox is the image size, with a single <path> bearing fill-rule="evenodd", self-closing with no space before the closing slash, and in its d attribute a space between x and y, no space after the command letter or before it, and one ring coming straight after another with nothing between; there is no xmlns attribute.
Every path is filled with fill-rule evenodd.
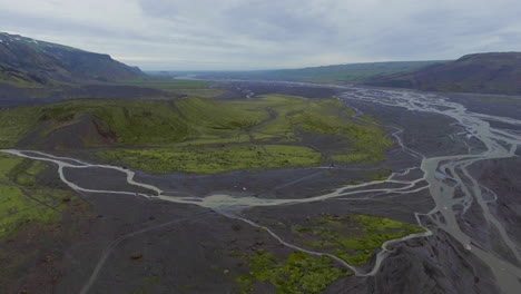
<svg viewBox="0 0 521 294"><path fill-rule="evenodd" d="M476 53L464 56L458 60L373 62L301 69L191 74L198 78L210 79L357 84L426 91L521 95L521 52ZM170 75L178 76L180 72L170 72Z"/></svg>

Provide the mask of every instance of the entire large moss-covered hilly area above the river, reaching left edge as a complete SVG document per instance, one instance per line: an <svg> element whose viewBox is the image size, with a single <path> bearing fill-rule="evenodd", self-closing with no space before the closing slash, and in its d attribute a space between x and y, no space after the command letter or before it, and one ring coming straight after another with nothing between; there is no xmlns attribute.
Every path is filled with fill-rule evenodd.
<svg viewBox="0 0 521 294"><path fill-rule="evenodd" d="M383 160L391 140L382 129L360 122L353 115L335 99L282 95L226 101L198 97L171 101L71 100L0 110L0 148L13 147L27 136L32 141L29 147L38 148L39 141L51 134L76 127L73 136L82 141L76 148L111 147L98 155L156 173ZM95 127L82 134L89 129L89 121ZM98 134L92 134L92 128ZM326 141L308 144L306 138L313 136ZM110 144L97 137L110 137ZM70 138L69 131L46 144L61 148L68 145L59 140Z"/></svg>

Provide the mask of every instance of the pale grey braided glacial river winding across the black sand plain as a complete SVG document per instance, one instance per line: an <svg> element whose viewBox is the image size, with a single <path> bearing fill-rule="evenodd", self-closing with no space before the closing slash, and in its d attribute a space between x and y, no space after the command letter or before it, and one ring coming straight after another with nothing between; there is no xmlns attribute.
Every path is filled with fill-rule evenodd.
<svg viewBox="0 0 521 294"><path fill-rule="evenodd" d="M95 165L89 164L79 159L58 157L50 154L32 150L2 150L8 154L31 158L35 160L42 160L53 163L58 166L58 174L61 180L67 184L70 188L83 192L83 193L99 193L99 194L118 194L118 195L132 195L142 196L157 200L166 200L173 203L191 204L198 205L212 210L218 212L227 217L237 218L248 223L252 226L263 227L274 238L284 244L285 246L294 249L307 252L314 255L327 255L334 258L338 264L352 270L358 276L375 275L384 258L389 255L387 246L402 242L404 239L416 238L416 237L429 237L432 235L430 228L436 227L446 232L455 241L458 241L462 247L473 253L479 259L486 264L493 273L498 286L507 294L519 293L521 288L521 254L518 244L509 236L507 229L501 222L490 210L489 204L494 202L493 197L501 197L501 195L492 195L490 189L483 187L469 171L469 167L479 161L498 158L514 157L518 147L521 145L521 136L515 131L509 129L493 128L489 121L498 121L508 124L515 127L521 127L521 120L517 120L508 117L490 116L483 114L476 114L469 111L463 105L449 100L441 95L415 92L415 91L394 91L394 90L379 90L379 89L366 89L366 88L346 88L348 91L338 96L338 99L345 100L348 105L350 101L360 101L364 104L375 104L386 107L399 107L409 111L421 111L429 114L436 114L448 116L464 129L464 136L466 138L479 139L484 145L484 150L475 151L470 146L468 153L461 155L439 156L439 157L423 157L421 154L410 149L402 143L399 136L402 131L397 129L393 135L396 143L402 147L404 151L410 153L412 156L421 159L420 166L413 166L407 169L401 170L400 173L392 174L385 180L374 180L363 183L360 185L352 185L340 187L336 190L316 195L314 197L301 198L301 199L265 199L257 197L237 197L234 195L210 195L206 197L193 197L183 195L170 195L164 193L160 187L156 187L146 183L139 183L135 180L135 173L118 166L110 165ZM126 182L128 185L138 186L150 190L150 193L132 193L132 192L119 192L104 189L102 187L97 189L85 188L81 183L73 183L67 177L67 170L81 169L81 168L107 168L118 170L126 174ZM324 167L328 168L328 167ZM423 175L415 179L400 179L400 177L407 175L411 170L421 169ZM392 184L392 188L384 186L384 184ZM383 187L382 187L383 186ZM289 244L284 241L281 236L277 236L268 227L262 226L254 223L250 219L246 219L240 215L240 210L257 206L277 206L277 205L293 205L301 203L313 203L318 200L326 200L333 198L342 198L345 200L360 199L356 195L366 195L368 193L384 194L411 194L420 190L429 189L432 196L435 207L432 208L427 214L416 213L416 219L419 225L423 226L426 232L422 234L414 234L406 236L402 239L394 239L385 243L382 246L382 251L376 256L374 266L370 271L363 271L355 266L346 264L341 258L315 251L308 251L298 247L294 244ZM493 227L498 232L498 237L505 244L510 251L510 255L514 259L505 261L500 254L493 252L493 249L485 249L486 246L480 244L479 241L473 239L472 236L464 233L460 226L459 219L461 218L462 212L466 212L470 205L476 203L481 207L482 217L486 220L490 227ZM90 285L96 280L99 271L101 270L107 256L117 243L112 244L110 248L104 253L104 256L96 267L95 272L90 276L81 293L88 293Z"/></svg>

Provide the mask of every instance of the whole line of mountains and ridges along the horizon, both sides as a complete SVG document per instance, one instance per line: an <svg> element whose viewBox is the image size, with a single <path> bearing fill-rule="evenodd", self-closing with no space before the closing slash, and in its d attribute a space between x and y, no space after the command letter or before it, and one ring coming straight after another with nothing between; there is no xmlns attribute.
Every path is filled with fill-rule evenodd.
<svg viewBox="0 0 521 294"><path fill-rule="evenodd" d="M187 72L156 72L186 76ZM206 79L358 84L429 91L521 95L521 52L468 55L454 61L397 61L302 69L195 72ZM108 55L0 32L0 88L148 79ZM124 89L124 92L128 92ZM1 92L0 92L1 94ZM1 96L1 95L0 95Z"/></svg>

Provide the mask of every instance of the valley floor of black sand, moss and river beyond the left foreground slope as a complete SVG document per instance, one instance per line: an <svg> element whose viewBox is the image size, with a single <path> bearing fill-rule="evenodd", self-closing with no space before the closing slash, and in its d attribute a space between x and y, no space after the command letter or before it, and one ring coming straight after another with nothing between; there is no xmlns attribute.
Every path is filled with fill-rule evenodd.
<svg viewBox="0 0 521 294"><path fill-rule="evenodd" d="M450 96L413 91L222 87L240 90L222 98L72 100L2 114L19 119L2 128L6 158L41 163L39 178L76 190L95 212L83 238L61 258L65 268L83 266L62 275L56 292L518 287L519 261L509 259L519 255L511 224L520 216L498 214L497 205L501 197L518 202L519 178L499 194L480 184L474 167L517 165L519 117L472 112ZM288 96L299 87L335 99ZM257 95L260 88L274 94ZM465 104L474 107L472 99ZM80 127L86 124L98 127ZM67 128L81 139L66 141ZM441 274L448 267L453 275Z"/></svg>

